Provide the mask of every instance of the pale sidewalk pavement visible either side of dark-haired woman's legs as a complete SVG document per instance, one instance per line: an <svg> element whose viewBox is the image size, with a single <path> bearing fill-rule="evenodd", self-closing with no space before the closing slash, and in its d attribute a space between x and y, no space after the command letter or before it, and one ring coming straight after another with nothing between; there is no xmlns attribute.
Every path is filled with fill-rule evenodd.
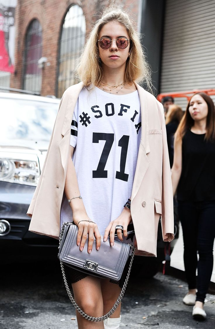
<svg viewBox="0 0 215 329"><path fill-rule="evenodd" d="M214 250L215 250L215 242L214 242ZM171 253L170 266L184 271L183 253L184 253L183 234L182 234L182 227L180 224L179 238ZM214 255L214 266L213 266L213 272L212 272L212 276L211 276L211 282L215 282L215 255Z"/></svg>

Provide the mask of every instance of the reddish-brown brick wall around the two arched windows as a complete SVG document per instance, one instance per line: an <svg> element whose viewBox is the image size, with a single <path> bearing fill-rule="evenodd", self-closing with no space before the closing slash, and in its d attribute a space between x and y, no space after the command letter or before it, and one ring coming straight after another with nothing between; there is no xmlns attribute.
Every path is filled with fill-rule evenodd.
<svg viewBox="0 0 215 329"><path fill-rule="evenodd" d="M118 4L126 5L138 19L139 0L118 0ZM79 5L86 19L86 34L90 32L92 23L98 19L102 8L108 6L106 0L18 0L15 12L15 73L11 76L11 87L22 88L23 54L25 35L30 22L38 19L43 30L43 54L48 65L42 70L41 94L56 94L58 47L62 24L72 4ZM96 15L97 13L97 15Z"/></svg>

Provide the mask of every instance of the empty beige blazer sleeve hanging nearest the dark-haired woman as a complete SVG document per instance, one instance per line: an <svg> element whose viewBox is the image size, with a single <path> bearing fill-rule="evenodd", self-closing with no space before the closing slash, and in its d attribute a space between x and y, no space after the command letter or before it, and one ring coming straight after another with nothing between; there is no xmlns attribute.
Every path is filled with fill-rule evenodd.
<svg viewBox="0 0 215 329"><path fill-rule="evenodd" d="M162 170L162 215L161 226L164 241L174 239L174 216L173 216L173 194L172 181L169 165L169 152L167 145L167 132L163 105L159 103L162 113L162 140L163 140L163 170Z"/></svg>

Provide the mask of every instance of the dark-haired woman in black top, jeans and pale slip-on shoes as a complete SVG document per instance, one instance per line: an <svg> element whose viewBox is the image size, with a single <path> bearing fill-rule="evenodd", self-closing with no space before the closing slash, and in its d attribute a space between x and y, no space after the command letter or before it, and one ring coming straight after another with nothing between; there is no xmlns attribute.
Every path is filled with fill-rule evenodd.
<svg viewBox="0 0 215 329"><path fill-rule="evenodd" d="M200 92L190 99L175 133L172 166L173 195L177 189L188 282L188 293L183 302L194 305L193 316L200 319L206 318L203 306L213 269L214 163L215 108L212 99Z"/></svg>

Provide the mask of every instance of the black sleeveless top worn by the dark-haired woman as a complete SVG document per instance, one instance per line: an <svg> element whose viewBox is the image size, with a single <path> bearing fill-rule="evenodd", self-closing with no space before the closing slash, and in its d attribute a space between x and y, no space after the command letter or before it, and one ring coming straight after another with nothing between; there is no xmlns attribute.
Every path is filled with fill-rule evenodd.
<svg viewBox="0 0 215 329"><path fill-rule="evenodd" d="M190 130L182 139L182 172L177 198L181 201L215 200L215 142Z"/></svg>

